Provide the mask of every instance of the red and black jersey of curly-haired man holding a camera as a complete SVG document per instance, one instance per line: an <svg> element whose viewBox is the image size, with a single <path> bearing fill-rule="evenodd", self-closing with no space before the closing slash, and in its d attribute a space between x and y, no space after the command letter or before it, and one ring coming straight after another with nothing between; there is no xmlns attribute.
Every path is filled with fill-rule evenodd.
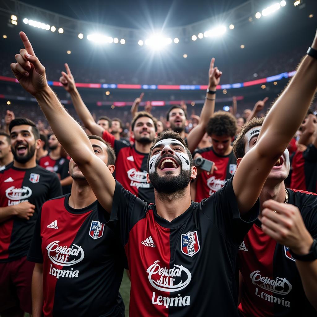
<svg viewBox="0 0 317 317"><path fill-rule="evenodd" d="M236 172L236 157L231 151L230 154L218 155L212 146L195 151L201 154L204 159L208 159L217 166L218 170L212 175L208 175L206 171L202 171L197 177L196 198L195 201L200 202L204 198L208 198L212 193L222 188L223 185Z"/></svg>

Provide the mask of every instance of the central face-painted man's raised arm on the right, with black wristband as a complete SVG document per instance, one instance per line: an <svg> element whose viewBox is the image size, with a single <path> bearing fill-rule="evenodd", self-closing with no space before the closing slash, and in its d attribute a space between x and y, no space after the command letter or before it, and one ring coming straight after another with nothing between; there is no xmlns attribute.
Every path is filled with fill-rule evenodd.
<svg viewBox="0 0 317 317"><path fill-rule="evenodd" d="M317 49L317 34L312 44ZM254 146L233 177L240 213L255 204L272 167L301 125L317 88L317 59L306 55L297 72L266 116Z"/></svg>

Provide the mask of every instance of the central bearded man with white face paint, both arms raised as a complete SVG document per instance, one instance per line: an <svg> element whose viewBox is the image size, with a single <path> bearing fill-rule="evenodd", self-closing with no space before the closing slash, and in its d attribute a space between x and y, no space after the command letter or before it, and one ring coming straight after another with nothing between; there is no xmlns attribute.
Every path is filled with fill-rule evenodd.
<svg viewBox="0 0 317 317"><path fill-rule="evenodd" d="M113 228L125 247L131 274L130 316L239 316L236 253L258 217L266 178L301 125L317 88L317 57L311 56L315 51L317 56L317 35L313 51L308 51L265 118L256 146L208 199L191 201L190 181L197 170L184 139L173 132L155 139L147 174L147 183L154 180L155 205L125 190L96 157L85 132L48 86L29 39L23 32L20 37L25 49L15 56L11 69L35 96L57 139L93 189L99 221Z"/></svg>

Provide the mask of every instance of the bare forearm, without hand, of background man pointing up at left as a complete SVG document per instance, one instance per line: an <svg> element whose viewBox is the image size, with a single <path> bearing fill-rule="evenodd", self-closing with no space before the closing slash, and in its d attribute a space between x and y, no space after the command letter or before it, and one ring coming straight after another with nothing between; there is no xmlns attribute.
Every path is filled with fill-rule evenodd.
<svg viewBox="0 0 317 317"><path fill-rule="evenodd" d="M96 135L102 135L103 128L95 122L94 117L86 107L84 101L81 99L81 95L79 94L78 90L74 89L69 91L69 93L70 97L72 98L74 108L84 126L91 133Z"/></svg>

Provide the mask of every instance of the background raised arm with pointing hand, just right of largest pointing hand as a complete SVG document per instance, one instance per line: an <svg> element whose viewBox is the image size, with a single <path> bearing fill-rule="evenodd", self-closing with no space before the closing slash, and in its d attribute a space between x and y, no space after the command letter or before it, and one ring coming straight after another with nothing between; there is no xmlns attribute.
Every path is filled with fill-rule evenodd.
<svg viewBox="0 0 317 317"><path fill-rule="evenodd" d="M95 122L92 114L81 99L81 95L75 85L74 76L72 75L67 63L65 64L65 68L67 73L61 72L62 76L60 77L60 82L65 90L69 92L80 120L92 134L102 137L102 133L104 132L103 127Z"/></svg>

